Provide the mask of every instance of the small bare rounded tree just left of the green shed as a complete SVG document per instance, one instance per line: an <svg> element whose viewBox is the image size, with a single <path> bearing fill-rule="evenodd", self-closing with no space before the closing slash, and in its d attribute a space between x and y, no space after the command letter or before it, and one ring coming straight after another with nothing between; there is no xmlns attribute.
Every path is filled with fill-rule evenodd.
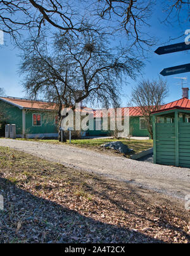
<svg viewBox="0 0 190 256"><path fill-rule="evenodd" d="M153 138L151 112L158 111L167 97L167 82L159 77L158 81L143 80L132 89L132 102L141 109L147 129Z"/></svg>

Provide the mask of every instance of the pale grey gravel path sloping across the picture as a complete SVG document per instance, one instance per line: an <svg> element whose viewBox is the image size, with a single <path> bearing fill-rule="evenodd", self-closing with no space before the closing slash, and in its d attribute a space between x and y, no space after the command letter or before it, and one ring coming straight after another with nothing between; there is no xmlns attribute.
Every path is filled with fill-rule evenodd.
<svg viewBox="0 0 190 256"><path fill-rule="evenodd" d="M0 146L11 147L71 168L153 189L175 198L184 198L190 194L190 169L188 168L154 165L117 156L106 156L70 145L1 138Z"/></svg>

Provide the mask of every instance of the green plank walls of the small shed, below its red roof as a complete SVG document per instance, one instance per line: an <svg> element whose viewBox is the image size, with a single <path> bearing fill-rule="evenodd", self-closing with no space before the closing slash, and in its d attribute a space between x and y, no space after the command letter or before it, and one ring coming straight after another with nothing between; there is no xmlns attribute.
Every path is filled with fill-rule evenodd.
<svg viewBox="0 0 190 256"><path fill-rule="evenodd" d="M190 123L173 114L174 123L156 123L153 116L154 163L190 168Z"/></svg>

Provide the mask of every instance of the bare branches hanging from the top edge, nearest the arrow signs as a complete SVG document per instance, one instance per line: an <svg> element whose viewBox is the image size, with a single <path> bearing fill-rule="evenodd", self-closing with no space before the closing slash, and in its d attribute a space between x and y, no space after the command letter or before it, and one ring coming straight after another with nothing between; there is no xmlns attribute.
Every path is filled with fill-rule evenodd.
<svg viewBox="0 0 190 256"><path fill-rule="evenodd" d="M153 37L143 33L142 27L149 27L149 17L156 1L148 0L102 0L95 2L96 11L104 20L113 22L114 30L124 30L132 44L153 45Z"/></svg>

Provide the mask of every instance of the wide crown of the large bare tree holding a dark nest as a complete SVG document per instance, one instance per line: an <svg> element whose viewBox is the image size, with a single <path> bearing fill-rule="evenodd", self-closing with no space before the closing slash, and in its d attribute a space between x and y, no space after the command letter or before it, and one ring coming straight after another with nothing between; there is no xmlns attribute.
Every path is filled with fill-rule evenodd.
<svg viewBox="0 0 190 256"><path fill-rule="evenodd" d="M77 37L60 32L50 50L45 39L26 43L22 58L25 89L31 97L56 102L60 125L63 106L74 110L75 103L85 100L116 107L124 77L135 78L143 67L128 50L111 47L105 36L92 31Z"/></svg>

